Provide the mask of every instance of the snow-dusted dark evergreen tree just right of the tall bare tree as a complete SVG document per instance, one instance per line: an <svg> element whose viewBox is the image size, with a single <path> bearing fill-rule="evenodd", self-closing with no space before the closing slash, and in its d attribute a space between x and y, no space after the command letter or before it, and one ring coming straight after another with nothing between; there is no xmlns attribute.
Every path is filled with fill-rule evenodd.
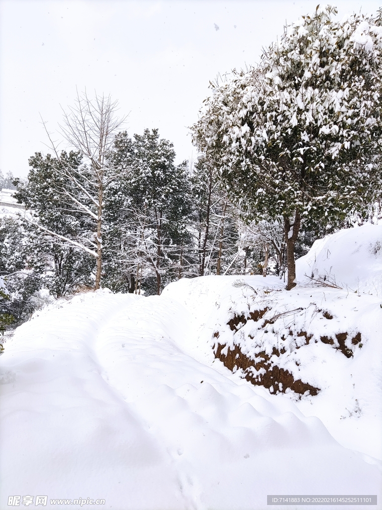
<svg viewBox="0 0 382 510"><path fill-rule="evenodd" d="M130 272L130 279L135 282L135 291L142 280L140 274L146 273L147 281L153 272L156 293L160 294L163 278L169 281L176 275L179 277L188 263L187 163L175 165L173 144L160 139L157 129L135 134L133 140L126 132L119 133L112 159L119 171L114 185L118 186L118 192L114 190L108 195L110 210L117 221L120 218L117 230L122 238L117 257L121 262L124 260L126 272Z"/></svg>

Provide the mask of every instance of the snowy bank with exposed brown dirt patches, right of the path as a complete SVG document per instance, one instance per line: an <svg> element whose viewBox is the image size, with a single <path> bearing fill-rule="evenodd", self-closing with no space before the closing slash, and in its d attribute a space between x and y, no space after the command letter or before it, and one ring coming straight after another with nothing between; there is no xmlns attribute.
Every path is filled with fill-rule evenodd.
<svg viewBox="0 0 382 510"><path fill-rule="evenodd" d="M193 316L195 333L183 346L193 356L219 359L214 366L234 380L295 401L342 445L382 459L380 299L284 285L275 277L204 276L172 283L163 295Z"/></svg>

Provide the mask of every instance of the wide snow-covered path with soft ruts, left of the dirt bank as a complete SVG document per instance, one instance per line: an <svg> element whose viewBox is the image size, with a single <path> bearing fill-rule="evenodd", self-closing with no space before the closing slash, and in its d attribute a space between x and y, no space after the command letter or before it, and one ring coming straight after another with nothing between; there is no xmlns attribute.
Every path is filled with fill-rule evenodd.
<svg viewBox="0 0 382 510"><path fill-rule="evenodd" d="M287 398L276 405L189 355L194 334L188 311L166 295L106 291L21 326L0 359L0 507L27 494L47 495L47 507L104 498L115 510L261 509L267 494L380 497L378 463L341 447Z"/></svg>

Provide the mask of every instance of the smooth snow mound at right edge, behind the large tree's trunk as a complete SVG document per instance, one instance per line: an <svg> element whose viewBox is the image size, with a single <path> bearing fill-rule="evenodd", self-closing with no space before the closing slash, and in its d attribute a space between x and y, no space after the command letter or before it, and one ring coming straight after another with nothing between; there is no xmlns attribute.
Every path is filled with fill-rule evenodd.
<svg viewBox="0 0 382 510"><path fill-rule="evenodd" d="M382 296L382 225L347 228L319 239L296 261L296 281Z"/></svg>

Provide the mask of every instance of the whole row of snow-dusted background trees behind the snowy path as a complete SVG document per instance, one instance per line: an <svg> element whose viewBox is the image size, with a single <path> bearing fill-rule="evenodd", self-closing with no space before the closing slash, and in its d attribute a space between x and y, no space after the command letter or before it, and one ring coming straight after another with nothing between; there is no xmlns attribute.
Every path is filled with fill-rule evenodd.
<svg viewBox="0 0 382 510"><path fill-rule="evenodd" d="M65 117L77 150L52 144L51 154L29 159L28 179L4 181L26 211L0 218L9 293L0 304L15 324L49 296L100 287L160 294L182 277L284 270L284 251L271 262L275 235L264 244L262 232L241 222L205 157L175 164L173 144L158 130L118 131L115 108L107 97L78 96Z"/></svg>

